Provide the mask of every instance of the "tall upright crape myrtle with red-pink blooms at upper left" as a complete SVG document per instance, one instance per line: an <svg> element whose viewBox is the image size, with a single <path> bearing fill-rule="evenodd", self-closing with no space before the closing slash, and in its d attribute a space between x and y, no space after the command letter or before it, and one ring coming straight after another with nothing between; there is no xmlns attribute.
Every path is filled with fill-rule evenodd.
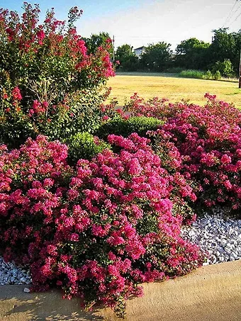
<svg viewBox="0 0 241 321"><path fill-rule="evenodd" d="M62 139L94 128L107 94L100 87L114 75L108 55L111 40L88 54L74 22L53 9L39 23L38 5L23 4L23 15L0 9L0 137L11 147L39 133Z"/></svg>

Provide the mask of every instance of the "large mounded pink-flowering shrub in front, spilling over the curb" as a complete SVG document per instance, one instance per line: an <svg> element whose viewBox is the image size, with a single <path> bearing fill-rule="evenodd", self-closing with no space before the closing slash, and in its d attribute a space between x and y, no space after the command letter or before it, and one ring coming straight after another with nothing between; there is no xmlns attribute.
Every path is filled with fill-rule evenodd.
<svg viewBox="0 0 241 321"><path fill-rule="evenodd" d="M178 209L196 199L184 176L136 133L108 141L118 154L103 150L77 167L66 145L44 136L10 152L2 145L0 248L30 266L33 290L59 286L86 308L103 303L123 316L139 283L185 274L203 254L180 237L195 218Z"/></svg>

